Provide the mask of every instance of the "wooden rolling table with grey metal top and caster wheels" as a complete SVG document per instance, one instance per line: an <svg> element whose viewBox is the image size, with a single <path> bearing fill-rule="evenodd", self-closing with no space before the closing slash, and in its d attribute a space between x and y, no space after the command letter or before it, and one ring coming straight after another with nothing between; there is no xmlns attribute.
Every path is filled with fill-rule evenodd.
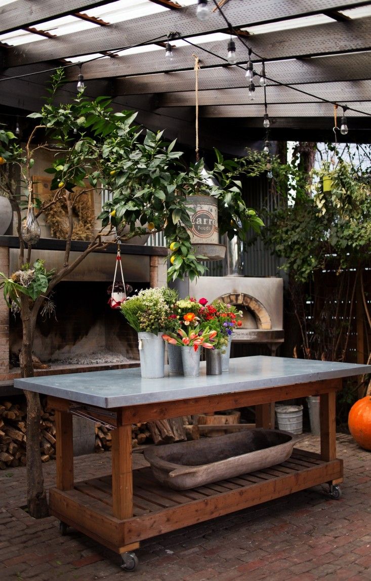
<svg viewBox="0 0 371 581"><path fill-rule="evenodd" d="M123 557L134 569L142 539L206 521L321 483L334 497L343 480L336 458L335 401L345 376L370 373L371 365L264 356L236 358L230 371L198 378L142 379L139 369L17 379L15 386L48 395L56 410L56 487L51 514ZM320 454L294 449L277 466L196 489L175 492L154 480L150 468L132 470L131 425L256 406L257 426L272 426L275 401L320 396ZM73 413L114 426L112 473L74 482Z"/></svg>

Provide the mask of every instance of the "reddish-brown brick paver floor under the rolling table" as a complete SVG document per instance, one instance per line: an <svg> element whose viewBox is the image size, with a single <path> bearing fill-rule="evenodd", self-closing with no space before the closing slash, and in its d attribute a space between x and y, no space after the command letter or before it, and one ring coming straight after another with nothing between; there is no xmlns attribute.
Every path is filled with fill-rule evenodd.
<svg viewBox="0 0 371 581"><path fill-rule="evenodd" d="M318 444L308 436L301 447L318 450ZM143 541L131 573L120 569L118 555L81 533L61 536L57 519L29 517L21 508L25 469L1 471L0 581L370 581L371 453L338 434L337 455L345 472L340 500L316 486ZM75 459L76 479L109 469L109 453ZM44 465L44 474L52 486L55 462Z"/></svg>

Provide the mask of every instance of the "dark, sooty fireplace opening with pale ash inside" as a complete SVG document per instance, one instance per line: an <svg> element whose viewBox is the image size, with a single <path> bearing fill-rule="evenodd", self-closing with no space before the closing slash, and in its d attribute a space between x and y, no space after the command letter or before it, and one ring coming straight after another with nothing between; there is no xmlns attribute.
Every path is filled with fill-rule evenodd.
<svg viewBox="0 0 371 581"><path fill-rule="evenodd" d="M133 292L145 288L130 283ZM39 314L33 354L42 363L76 365L139 360L138 335L120 310L107 303L109 282L62 281L52 295L55 313ZM17 365L22 340L19 314L10 315L10 363Z"/></svg>

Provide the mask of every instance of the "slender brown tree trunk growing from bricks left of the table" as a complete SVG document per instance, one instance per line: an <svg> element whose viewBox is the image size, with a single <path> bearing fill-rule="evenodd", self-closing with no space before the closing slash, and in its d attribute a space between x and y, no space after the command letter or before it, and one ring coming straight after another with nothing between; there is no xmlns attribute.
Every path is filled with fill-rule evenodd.
<svg viewBox="0 0 371 581"><path fill-rule="evenodd" d="M37 313L30 311L28 301L27 296L21 296L23 342L20 365L22 377L34 376L32 347ZM27 401L27 507L31 517L44 518L49 515L49 509L40 454L40 399L38 393L25 391L24 394Z"/></svg>

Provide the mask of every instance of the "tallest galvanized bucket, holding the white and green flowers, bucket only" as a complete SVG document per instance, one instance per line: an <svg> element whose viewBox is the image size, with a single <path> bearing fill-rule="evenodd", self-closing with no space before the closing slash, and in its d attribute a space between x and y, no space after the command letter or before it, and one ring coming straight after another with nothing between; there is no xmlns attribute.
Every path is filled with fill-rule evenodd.
<svg viewBox="0 0 371 581"><path fill-rule="evenodd" d="M155 379L165 375L165 342L163 331L157 333L138 333L141 376Z"/></svg>

